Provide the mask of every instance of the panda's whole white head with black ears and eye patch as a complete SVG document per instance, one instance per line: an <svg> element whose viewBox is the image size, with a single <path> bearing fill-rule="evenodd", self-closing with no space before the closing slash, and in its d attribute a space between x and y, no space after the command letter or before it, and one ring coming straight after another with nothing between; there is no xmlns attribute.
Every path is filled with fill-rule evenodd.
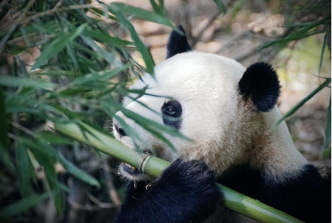
<svg viewBox="0 0 332 223"><path fill-rule="evenodd" d="M179 29L184 32L181 26ZM245 69L233 59L194 52L185 35L172 31L167 59L155 66L154 76L146 73L131 87L145 89L145 94L129 94L123 106L191 140L163 133L175 149L171 148L120 111L116 117L139 137L126 134L116 118L113 133L132 150L138 148L167 161L198 159L221 173L252 146L252 137L261 130L256 120L273 110L279 88L277 74L269 64ZM129 180L148 179L128 164L120 165L120 173Z"/></svg>

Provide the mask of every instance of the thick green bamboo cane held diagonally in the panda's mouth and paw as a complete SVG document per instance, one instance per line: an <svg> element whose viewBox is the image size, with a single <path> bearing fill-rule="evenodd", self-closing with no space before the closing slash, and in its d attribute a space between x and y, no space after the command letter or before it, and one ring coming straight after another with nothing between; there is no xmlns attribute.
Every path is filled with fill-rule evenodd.
<svg viewBox="0 0 332 223"><path fill-rule="evenodd" d="M158 177L170 162L149 154L141 154L126 148L104 131L95 129L82 122L49 124L50 129L64 134L76 141L90 145L100 152L109 154L120 161L135 166L140 171ZM223 193L223 205L246 215L258 222L301 222L280 210L271 208L259 201L244 196L223 185L218 185Z"/></svg>

